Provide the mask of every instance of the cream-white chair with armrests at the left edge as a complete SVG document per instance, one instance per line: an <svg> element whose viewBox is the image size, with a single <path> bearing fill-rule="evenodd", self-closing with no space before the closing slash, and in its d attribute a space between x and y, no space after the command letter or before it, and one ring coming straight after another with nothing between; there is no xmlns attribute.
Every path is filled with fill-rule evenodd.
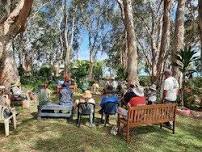
<svg viewBox="0 0 202 152"><path fill-rule="evenodd" d="M11 109L12 115L9 116L8 118L4 117L4 111L7 109L7 107L4 107L2 105L0 105L0 122L4 123L4 127L5 127L5 135L8 136L9 135L9 122L12 119L13 121L13 126L14 129L16 129L16 111L14 108Z"/></svg>

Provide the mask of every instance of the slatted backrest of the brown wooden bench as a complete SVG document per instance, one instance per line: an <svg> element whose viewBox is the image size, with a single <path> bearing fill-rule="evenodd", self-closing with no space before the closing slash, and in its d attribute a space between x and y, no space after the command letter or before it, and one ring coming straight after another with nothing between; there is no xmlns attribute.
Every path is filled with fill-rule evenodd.
<svg viewBox="0 0 202 152"><path fill-rule="evenodd" d="M130 107L128 123L161 123L175 119L176 104L157 104Z"/></svg>

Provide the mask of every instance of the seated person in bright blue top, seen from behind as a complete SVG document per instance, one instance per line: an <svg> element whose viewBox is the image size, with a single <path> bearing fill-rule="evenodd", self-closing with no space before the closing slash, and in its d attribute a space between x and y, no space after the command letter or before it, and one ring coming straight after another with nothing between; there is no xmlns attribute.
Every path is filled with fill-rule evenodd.
<svg viewBox="0 0 202 152"><path fill-rule="evenodd" d="M100 114L102 114L104 112L104 108L105 108L105 104L106 103L118 103L119 99L116 95L114 95L113 93L113 87L111 85L109 85L107 87L107 89L103 90L103 96L102 96L102 100L100 102L100 106L101 106L101 110L99 111Z"/></svg>

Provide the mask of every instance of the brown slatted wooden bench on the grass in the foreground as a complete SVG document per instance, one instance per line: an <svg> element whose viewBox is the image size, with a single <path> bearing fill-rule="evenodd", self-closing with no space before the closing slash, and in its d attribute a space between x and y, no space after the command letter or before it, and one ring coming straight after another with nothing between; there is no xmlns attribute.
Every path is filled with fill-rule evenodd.
<svg viewBox="0 0 202 152"><path fill-rule="evenodd" d="M129 107L127 118L118 114L117 127L120 133L121 124L126 128L126 141L129 142L130 129L137 126L162 124L172 121L172 131L175 133L176 104L156 104Z"/></svg>

